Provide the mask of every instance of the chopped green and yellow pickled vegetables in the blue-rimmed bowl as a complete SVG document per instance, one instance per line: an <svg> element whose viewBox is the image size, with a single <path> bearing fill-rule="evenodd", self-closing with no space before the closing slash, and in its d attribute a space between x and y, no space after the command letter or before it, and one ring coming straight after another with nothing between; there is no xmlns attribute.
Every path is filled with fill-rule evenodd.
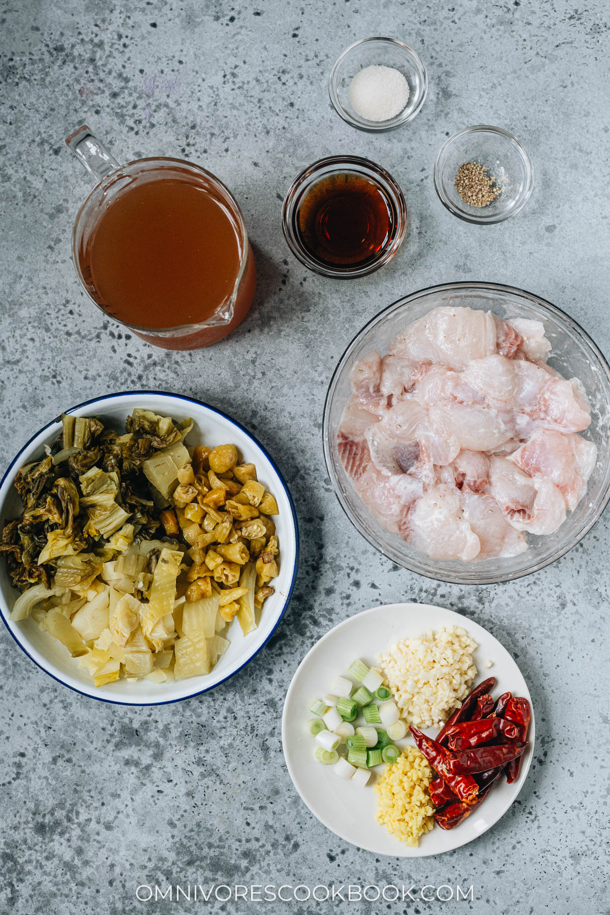
<svg viewBox="0 0 610 915"><path fill-rule="evenodd" d="M227 624L237 616L249 633L275 593L275 525L258 508L271 512L273 496L234 445L187 448L192 427L142 408L123 434L64 415L44 457L16 475L25 508L0 537L23 592L11 619L31 617L96 685L209 673ZM340 725L327 699L317 714L330 707Z"/></svg>

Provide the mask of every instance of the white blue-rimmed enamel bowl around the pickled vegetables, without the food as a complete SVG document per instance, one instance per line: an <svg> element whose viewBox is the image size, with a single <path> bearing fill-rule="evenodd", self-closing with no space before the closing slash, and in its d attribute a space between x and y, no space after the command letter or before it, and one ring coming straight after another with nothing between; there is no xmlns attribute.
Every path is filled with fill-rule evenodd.
<svg viewBox="0 0 610 915"><path fill-rule="evenodd" d="M99 689L88 674L79 667L78 659L71 658L69 651L47 632L41 632L33 619L23 622L9 622L10 608L18 592L11 586L5 562L0 559L0 614L17 644L28 657L49 673L59 683L70 686L78 693L91 695L105 702L125 705L160 705L177 702L188 696L204 693L227 680L241 670L244 664L262 649L273 635L294 587L298 566L298 529L294 504L280 471L264 448L239 423L219 410L200 401L178 394L153 391L134 391L98 397L84 404L72 407L67 413L75 416L99 416L107 425L124 429L125 418L135 406L153 410L156 414L172 416L176 420L192 416L195 426L187 437L187 445L208 445L215 447L230 442L236 445L246 461L256 465L258 479L273 492L278 504L279 515L274 517L280 544L280 574L273 582L275 593L268 597L262 610L258 629L245 638L240 624L233 620L229 630L230 647L219 659L212 671L205 677L190 677L166 684L153 684L148 680L128 683L117 680ZM21 511L21 501L13 486L17 470L28 461L43 455L43 446L50 445L59 434L61 419L54 419L36 436L31 438L5 472L0 485L0 529L4 522L16 518Z"/></svg>

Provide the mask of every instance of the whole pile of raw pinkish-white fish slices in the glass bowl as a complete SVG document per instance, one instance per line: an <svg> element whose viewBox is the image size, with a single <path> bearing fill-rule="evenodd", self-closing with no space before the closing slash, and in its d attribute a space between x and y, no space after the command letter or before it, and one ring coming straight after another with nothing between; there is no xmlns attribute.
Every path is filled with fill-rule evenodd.
<svg viewBox="0 0 610 915"><path fill-rule="evenodd" d="M392 533L434 559L516 556L557 530L597 458L582 382L540 321L434 308L352 372L337 448Z"/></svg>

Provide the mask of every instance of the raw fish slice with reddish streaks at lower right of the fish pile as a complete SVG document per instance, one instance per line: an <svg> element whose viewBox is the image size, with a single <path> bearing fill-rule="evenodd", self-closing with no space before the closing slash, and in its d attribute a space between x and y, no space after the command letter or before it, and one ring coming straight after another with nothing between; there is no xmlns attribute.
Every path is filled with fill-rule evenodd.
<svg viewBox="0 0 610 915"><path fill-rule="evenodd" d="M517 531L552 533L565 521L562 492L549 479L532 478L509 458L491 458L490 495Z"/></svg>

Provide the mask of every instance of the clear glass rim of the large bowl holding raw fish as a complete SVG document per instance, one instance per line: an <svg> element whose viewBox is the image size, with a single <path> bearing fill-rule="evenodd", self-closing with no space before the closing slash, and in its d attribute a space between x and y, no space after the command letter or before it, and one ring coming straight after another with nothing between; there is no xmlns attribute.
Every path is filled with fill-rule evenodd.
<svg viewBox="0 0 610 915"><path fill-rule="evenodd" d="M571 542L558 547L555 550L554 554L551 554L551 555L547 556L546 558L533 563L530 566L524 566L522 569L518 569L510 575L501 575L499 573L494 575L492 573L488 573L488 574L476 576L476 565L472 564L472 563L471 564L465 563L464 564L465 565L465 575L464 576L448 575L448 574L444 574L442 571L439 572L438 574L434 574L431 569L423 570L423 568L420 565L418 565L416 562L407 563L401 559L398 559L394 555L390 555L390 554L386 553L386 551L380 546L380 544L378 544L375 541L375 539L369 534L369 532L360 526L358 520L352 515L352 511L351 511L348 503L343 499L343 496L341 495L340 488L337 483L335 471L333 468L331 454L330 454L331 443L330 443L330 438L329 438L329 434L328 434L330 404L331 404L331 401L333 398L333 394L335 393L335 388L337 386L337 380L338 380L339 374L340 374L341 370L343 369L345 362L348 361L348 357L350 356L352 350L354 350L356 348L356 346L358 345L360 339L371 328L374 328L375 325L378 324L382 318L384 318L386 315L390 314L391 311L396 310L399 307L405 306L409 302L414 301L415 299L418 299L422 296L427 295L428 293L433 293L433 292L441 292L441 291L453 292L453 291L463 291L466 289L472 290L475 292L477 290L486 290L486 291L491 291L491 292L497 291L500 293L502 293L502 292L512 293L513 295L517 295L517 296L526 296L527 298L532 299L537 303L540 303L540 305L542 305L543 307L548 308L551 311L551 314L553 314L555 316L555 318L558 318L560 321L566 322L567 324L571 325L572 329L576 332L576 334L579 335L580 337L582 337L584 339L585 343L587 344L587 346L590 347L591 350L593 350L595 357L599 361L600 367L603 369L603 371L605 371L606 381L608 382L608 385L610 386L610 365L608 364L608 361L606 360L605 355L599 349L599 347L594 342L594 340L591 339L591 337L586 332L586 330L584 330L584 328L581 327L581 325L578 323L578 321L574 320L574 318L571 318L570 315L568 315L568 314L566 314L566 312L562 311L561 308L558 308L557 306L552 305L552 303L549 302L547 299L541 298L540 296L536 296L534 293L530 293L526 289L521 289L519 286L511 286L511 285L506 285L503 283L489 283L489 282L485 282L485 281L466 281L466 280L464 280L464 281L457 281L454 283L440 283L437 285L425 286L423 289L418 289L416 292L410 293L408 296L402 296L401 298L398 298L394 302L392 302L391 305L388 305L387 307L382 308L380 312L378 312L376 315L374 315L372 318L370 318L369 321L367 321L367 323L362 328L359 329L359 332L356 334L356 336L353 339L351 339L350 342L348 343L348 346L343 351L343 354L341 355L339 361L337 362L337 367L335 368L335 371L333 371L332 377L328 384L328 390L326 391L326 398L325 398L325 402L324 402L324 414L323 414L323 420L322 420L322 445L323 445L323 450L324 450L324 459L325 459L325 463L326 463L326 472L328 474L328 478L330 479L335 496L337 497L337 501L339 502L339 505L341 506L341 508L343 509L345 514L347 515L348 520L356 528L356 530L359 532L359 534L361 536L363 536L364 539L369 542L369 544L371 546L373 546L376 550L378 550L378 552L380 552L380 554L384 555L387 559L390 559L391 562L395 563L396 565L401 565L402 568L406 568L410 572L414 572L416 575L421 575L425 578L430 578L434 581L442 581L447 584L470 585L470 586L478 587L481 585L498 585L503 582L514 581L518 578L523 578L525 576L532 575L534 572L540 572L540 570L543 568L546 568L547 565L551 565L552 563L556 562L558 559L561 559L562 556L569 553L570 550L572 550L573 547L576 546L576 544L579 544L583 540L583 537L585 537L586 534L592 530L594 525L601 518L601 516L605 510L605 507L608 504L608 501L610 501L610 487L606 487L605 492L600 493L600 495L596 498L594 511L592 511L591 517L587 520L587 522L585 524L583 524L583 528L576 534L575 538L573 538L573 540ZM523 554L523 555L525 556L527 554ZM470 573L469 575L467 574L468 572Z"/></svg>

